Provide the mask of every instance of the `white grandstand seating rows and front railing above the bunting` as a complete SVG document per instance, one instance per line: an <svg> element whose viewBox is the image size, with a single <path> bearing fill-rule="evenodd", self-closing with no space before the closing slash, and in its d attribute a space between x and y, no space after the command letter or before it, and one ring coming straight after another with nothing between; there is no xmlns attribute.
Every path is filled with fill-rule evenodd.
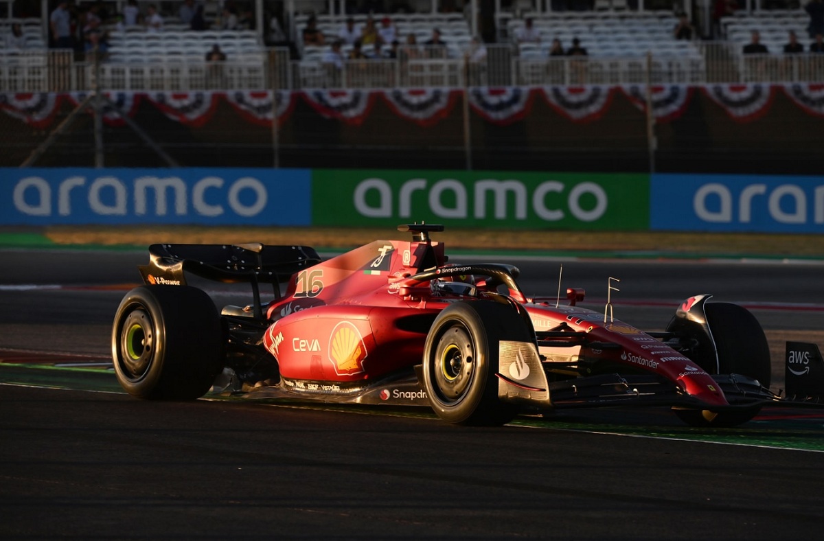
<svg viewBox="0 0 824 541"><path fill-rule="evenodd" d="M45 49L44 27L39 19L0 20L8 33L20 22L26 34L24 51L0 49L0 91L87 91L95 82L107 90L231 90L276 87L283 90L311 87L415 87L472 85L581 85L581 84L700 84L705 82L821 82L824 55L796 55L789 65L782 55L756 68L742 57L742 47L753 29L760 30L770 53L780 53L789 30L807 44L806 14L798 9L739 13L723 19L726 40L676 40L677 18L667 10L638 12L608 9L588 12L513 12L499 14L499 43L487 44L488 58L465 64L471 44L471 27L461 13L393 13L399 41L415 35L419 44L434 28L446 42L446 58L382 59L342 72L330 72L322 63L326 46L303 47L300 58L288 49L267 49L255 30L194 31L167 17L160 33L142 28L109 29L109 49L100 66L82 55L56 62L57 51ZM336 40L344 16L320 14L318 28L327 43ZM363 24L366 15L354 15ZM381 14L374 14L380 21ZM540 43L517 44L513 39L530 17L541 34ZM293 35L301 35L309 14L293 19ZM548 56L554 38L568 48L573 38L588 49L587 58ZM208 77L205 54L218 44L227 54L221 77ZM369 52L368 50L366 52ZM344 49L344 54L346 50ZM62 58L62 57L61 57ZM59 64L59 65L58 65ZM59 68L59 69L57 69Z"/></svg>

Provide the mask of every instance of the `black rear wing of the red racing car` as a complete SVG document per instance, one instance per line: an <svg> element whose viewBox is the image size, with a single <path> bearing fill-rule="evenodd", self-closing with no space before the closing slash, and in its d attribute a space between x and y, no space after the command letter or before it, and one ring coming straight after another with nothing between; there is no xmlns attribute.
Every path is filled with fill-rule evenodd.
<svg viewBox="0 0 824 541"><path fill-rule="evenodd" d="M185 273L215 282L278 284L321 262L308 246L151 245L149 264L138 267L143 282L185 286Z"/></svg>

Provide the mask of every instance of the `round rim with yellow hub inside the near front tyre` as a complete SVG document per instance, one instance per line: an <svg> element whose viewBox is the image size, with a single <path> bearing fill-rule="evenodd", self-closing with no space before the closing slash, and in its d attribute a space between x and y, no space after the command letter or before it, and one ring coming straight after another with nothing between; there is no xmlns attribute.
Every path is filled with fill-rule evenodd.
<svg viewBox="0 0 824 541"><path fill-rule="evenodd" d="M475 347L466 329L453 326L442 334L433 372L439 398L445 403L460 402L475 375Z"/></svg>

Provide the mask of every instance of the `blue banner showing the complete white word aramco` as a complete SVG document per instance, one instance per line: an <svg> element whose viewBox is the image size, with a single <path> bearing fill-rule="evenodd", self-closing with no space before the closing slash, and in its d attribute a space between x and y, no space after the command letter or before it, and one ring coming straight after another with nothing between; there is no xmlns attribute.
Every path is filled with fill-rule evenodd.
<svg viewBox="0 0 824 541"><path fill-rule="evenodd" d="M0 169L0 225L311 225L308 169Z"/></svg>

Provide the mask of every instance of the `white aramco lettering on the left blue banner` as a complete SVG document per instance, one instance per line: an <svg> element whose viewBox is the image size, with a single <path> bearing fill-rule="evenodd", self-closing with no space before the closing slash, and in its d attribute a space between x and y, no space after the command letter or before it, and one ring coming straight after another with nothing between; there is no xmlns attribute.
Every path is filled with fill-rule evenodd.
<svg viewBox="0 0 824 541"><path fill-rule="evenodd" d="M78 195L87 207L73 208ZM68 217L88 211L99 216L127 216L130 203L135 216L187 216L191 205L204 217L221 216L227 207L237 216L254 217L264 210L268 198L265 185L248 176L231 184L217 176L191 184L176 176L140 176L129 183L115 176L87 179L78 175L61 181L56 189L43 178L30 176L17 182L12 193L18 212L37 217Z"/></svg>

